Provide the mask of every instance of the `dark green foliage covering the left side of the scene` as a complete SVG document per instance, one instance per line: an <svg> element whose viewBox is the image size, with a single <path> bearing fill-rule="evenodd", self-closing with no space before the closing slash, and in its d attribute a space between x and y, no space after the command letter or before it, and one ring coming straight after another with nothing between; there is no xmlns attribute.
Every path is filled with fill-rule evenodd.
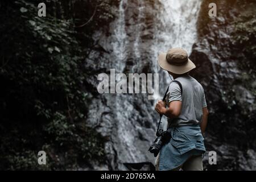
<svg viewBox="0 0 256 182"><path fill-rule="evenodd" d="M1 2L0 169L67 169L104 159L104 140L85 124L84 48L65 6L39 18L34 1ZM37 164L40 150L46 166Z"/></svg>

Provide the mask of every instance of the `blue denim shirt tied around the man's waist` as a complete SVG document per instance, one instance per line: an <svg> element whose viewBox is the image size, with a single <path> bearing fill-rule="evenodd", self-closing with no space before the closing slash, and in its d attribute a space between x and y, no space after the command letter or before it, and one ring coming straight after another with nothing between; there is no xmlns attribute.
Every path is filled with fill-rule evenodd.
<svg viewBox="0 0 256 182"><path fill-rule="evenodd" d="M190 156L204 154L204 138L199 125L172 127L171 135L171 140L161 148L159 170L175 169Z"/></svg>

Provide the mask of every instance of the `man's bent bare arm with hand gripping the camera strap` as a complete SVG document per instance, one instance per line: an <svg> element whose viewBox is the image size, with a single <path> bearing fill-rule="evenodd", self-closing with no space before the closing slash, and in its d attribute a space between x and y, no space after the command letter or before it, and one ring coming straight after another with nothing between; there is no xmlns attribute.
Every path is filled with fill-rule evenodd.
<svg viewBox="0 0 256 182"><path fill-rule="evenodd" d="M169 104L168 109L166 108L166 104L163 101L158 101L158 103L155 106L155 110L159 114L166 115L168 118L177 118L180 115L181 112L181 101L172 101Z"/></svg>

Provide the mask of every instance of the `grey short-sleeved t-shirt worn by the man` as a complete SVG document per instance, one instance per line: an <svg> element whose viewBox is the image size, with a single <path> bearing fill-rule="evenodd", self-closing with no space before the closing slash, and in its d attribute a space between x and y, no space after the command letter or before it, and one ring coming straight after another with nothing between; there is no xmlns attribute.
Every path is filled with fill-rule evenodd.
<svg viewBox="0 0 256 182"><path fill-rule="evenodd" d="M207 107L203 86L192 76L178 77L175 80L182 85L182 97L180 86L171 82L166 101L168 105L171 101L182 101L182 108L178 118L167 118L168 124L172 127L199 124L203 107Z"/></svg>

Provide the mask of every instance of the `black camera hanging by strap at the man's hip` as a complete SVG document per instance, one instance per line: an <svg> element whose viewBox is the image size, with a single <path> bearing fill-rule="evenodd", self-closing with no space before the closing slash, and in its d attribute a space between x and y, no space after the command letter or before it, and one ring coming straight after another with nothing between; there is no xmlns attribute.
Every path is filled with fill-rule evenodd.
<svg viewBox="0 0 256 182"><path fill-rule="evenodd" d="M171 134L168 131L163 131L162 129L158 130L156 133L156 139L152 146L148 149L156 157L162 148L162 146L168 143L171 139Z"/></svg>

